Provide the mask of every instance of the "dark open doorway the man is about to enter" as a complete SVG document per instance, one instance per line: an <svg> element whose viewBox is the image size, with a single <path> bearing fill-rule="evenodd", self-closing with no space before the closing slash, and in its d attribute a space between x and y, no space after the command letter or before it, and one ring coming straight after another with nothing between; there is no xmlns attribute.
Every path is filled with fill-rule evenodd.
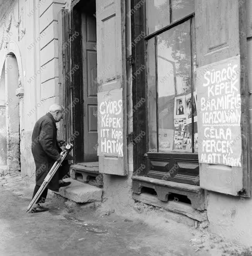
<svg viewBox="0 0 252 256"><path fill-rule="evenodd" d="M80 1L72 11L72 31L80 36L72 42L73 97L80 99L73 108L73 130L80 133L75 141L75 162L97 162L97 56L95 0Z"/></svg>

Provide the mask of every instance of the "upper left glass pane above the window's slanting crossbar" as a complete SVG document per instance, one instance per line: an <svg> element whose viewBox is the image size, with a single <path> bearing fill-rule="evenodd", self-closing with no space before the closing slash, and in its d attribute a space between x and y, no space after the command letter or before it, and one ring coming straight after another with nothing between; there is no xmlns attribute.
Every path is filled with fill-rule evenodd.
<svg viewBox="0 0 252 256"><path fill-rule="evenodd" d="M146 34L162 29L170 24L169 0L145 1L146 8Z"/></svg>

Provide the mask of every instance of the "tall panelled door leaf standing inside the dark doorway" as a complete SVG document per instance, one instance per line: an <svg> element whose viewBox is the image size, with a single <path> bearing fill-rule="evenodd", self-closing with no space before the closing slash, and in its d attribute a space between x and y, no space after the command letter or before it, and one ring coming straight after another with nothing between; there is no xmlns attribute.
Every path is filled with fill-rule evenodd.
<svg viewBox="0 0 252 256"><path fill-rule="evenodd" d="M97 58L96 19L82 14L82 67L84 113L84 161L98 161L97 157Z"/></svg>

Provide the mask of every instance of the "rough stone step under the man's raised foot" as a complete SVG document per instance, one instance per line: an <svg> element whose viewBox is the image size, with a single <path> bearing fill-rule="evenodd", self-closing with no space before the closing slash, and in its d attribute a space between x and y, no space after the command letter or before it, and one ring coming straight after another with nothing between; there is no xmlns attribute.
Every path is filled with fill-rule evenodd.
<svg viewBox="0 0 252 256"><path fill-rule="evenodd" d="M102 200L102 189L89 184L84 184L74 179L68 178L63 181L71 181L67 187L59 189L59 192L54 192L76 203L99 202Z"/></svg>

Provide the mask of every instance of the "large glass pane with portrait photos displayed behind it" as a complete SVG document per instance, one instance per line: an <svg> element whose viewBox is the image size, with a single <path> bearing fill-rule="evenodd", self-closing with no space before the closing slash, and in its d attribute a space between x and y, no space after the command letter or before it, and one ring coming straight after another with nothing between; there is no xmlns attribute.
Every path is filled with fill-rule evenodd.
<svg viewBox="0 0 252 256"><path fill-rule="evenodd" d="M157 36L159 151L192 152L190 20Z"/></svg>

